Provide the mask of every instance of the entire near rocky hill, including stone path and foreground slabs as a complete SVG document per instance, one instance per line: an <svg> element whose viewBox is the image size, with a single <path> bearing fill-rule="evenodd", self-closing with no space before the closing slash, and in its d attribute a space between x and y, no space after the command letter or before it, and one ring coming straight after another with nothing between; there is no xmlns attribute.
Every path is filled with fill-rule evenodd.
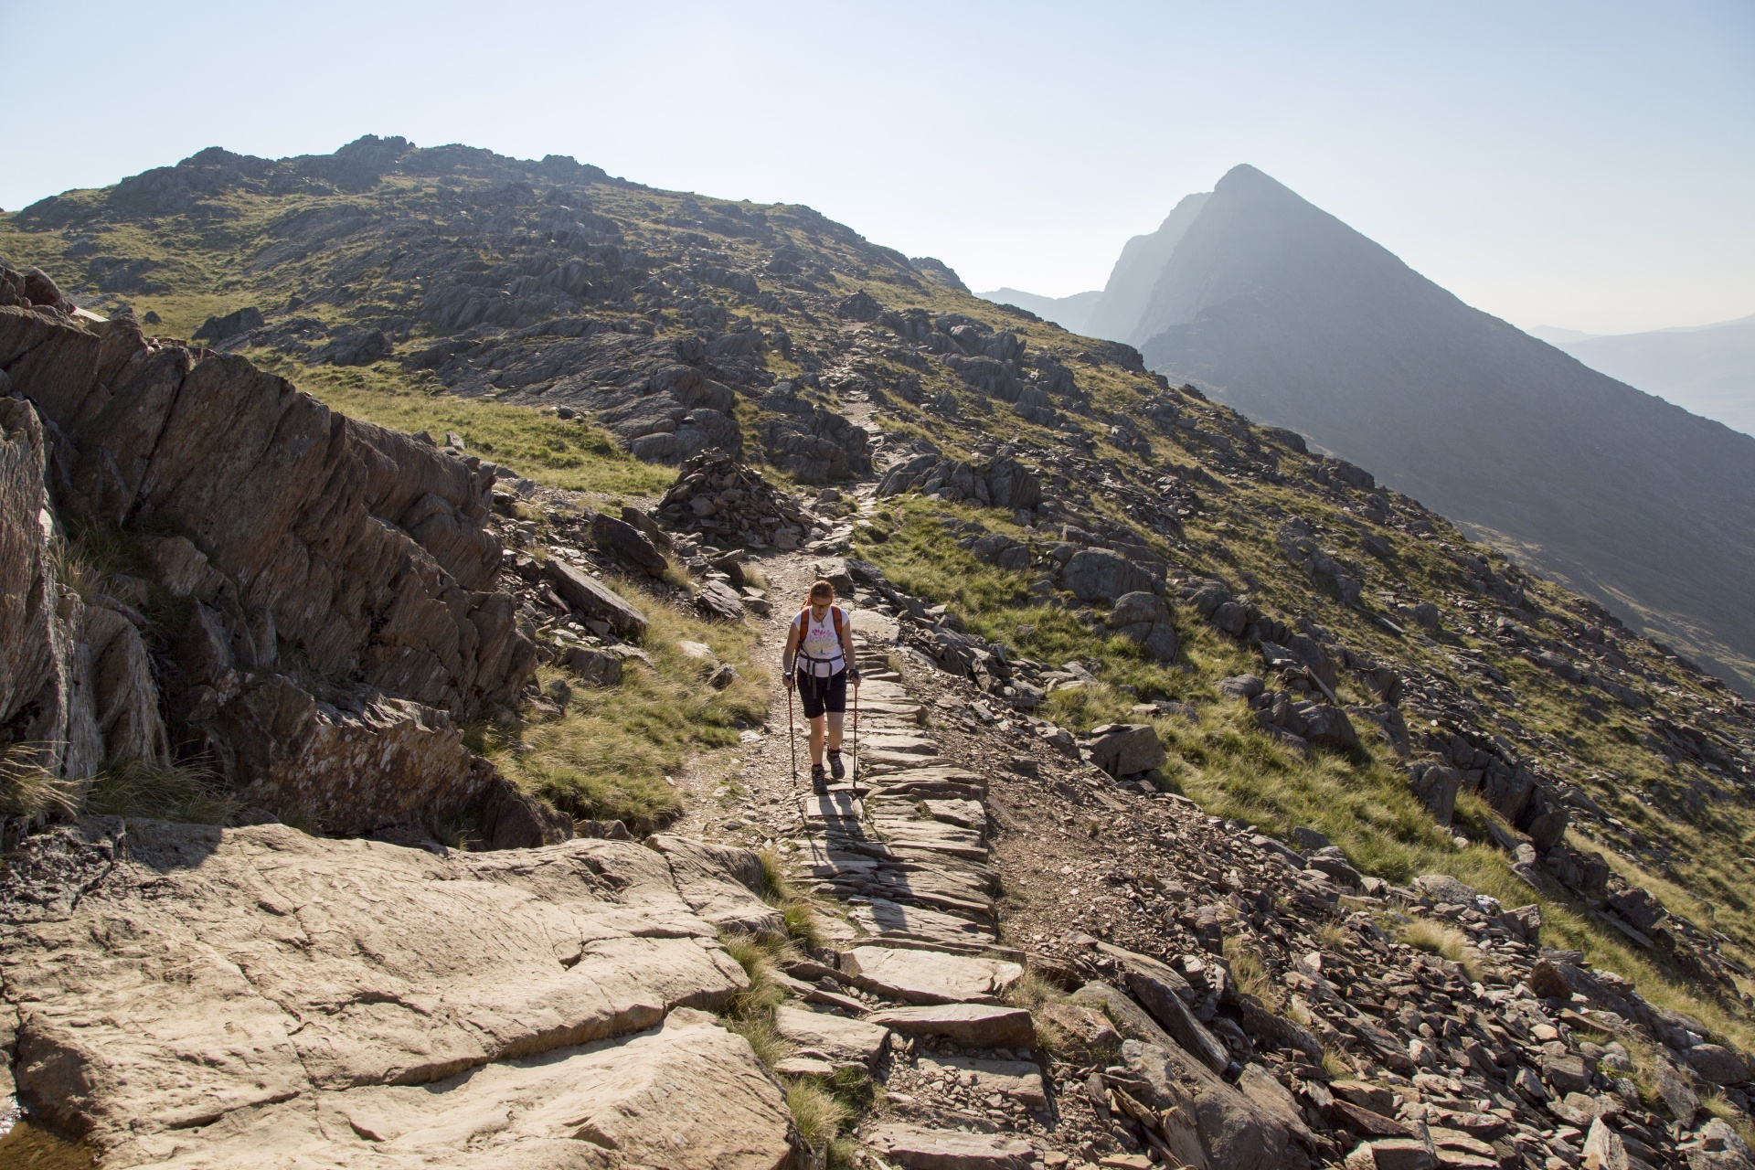
<svg viewBox="0 0 1755 1170"><path fill-rule="evenodd" d="M569 158L0 258L5 1165L1755 1166L1755 717L1371 468Z"/></svg>

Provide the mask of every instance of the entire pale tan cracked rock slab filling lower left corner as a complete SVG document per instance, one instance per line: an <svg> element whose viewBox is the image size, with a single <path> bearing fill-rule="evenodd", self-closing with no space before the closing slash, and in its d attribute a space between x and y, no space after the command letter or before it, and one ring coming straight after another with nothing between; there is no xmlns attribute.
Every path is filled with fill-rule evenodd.
<svg viewBox="0 0 1755 1170"><path fill-rule="evenodd" d="M748 977L653 849L86 819L32 837L5 882L19 1095L105 1165L790 1154L779 1086L690 1010Z"/></svg>

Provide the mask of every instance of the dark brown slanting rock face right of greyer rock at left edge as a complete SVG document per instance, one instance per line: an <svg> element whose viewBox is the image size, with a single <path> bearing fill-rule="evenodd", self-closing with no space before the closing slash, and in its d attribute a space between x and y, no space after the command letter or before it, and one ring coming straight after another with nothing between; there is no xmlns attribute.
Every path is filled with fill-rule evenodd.
<svg viewBox="0 0 1755 1170"><path fill-rule="evenodd" d="M493 591L488 472L332 414L242 358L153 347L130 319L86 328L0 307L0 368L65 439L65 509L184 531L188 547L144 542L195 602L161 631L176 670L154 702L179 751L242 791L290 791L298 772L333 828L483 795L441 712L516 702L535 660ZM283 647L326 681L323 702L276 674ZM114 677L140 679L132 646L105 649ZM144 709L109 705L109 730L140 728ZM358 768L381 730L379 781L323 779Z"/></svg>

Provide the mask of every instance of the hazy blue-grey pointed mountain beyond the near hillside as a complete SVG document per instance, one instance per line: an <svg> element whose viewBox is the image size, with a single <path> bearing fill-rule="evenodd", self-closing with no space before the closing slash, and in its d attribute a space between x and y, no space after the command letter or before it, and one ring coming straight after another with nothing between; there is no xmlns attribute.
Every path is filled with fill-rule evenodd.
<svg viewBox="0 0 1755 1170"><path fill-rule="evenodd" d="M1085 321L1755 689L1750 435L1471 309L1253 167L1130 240Z"/></svg>

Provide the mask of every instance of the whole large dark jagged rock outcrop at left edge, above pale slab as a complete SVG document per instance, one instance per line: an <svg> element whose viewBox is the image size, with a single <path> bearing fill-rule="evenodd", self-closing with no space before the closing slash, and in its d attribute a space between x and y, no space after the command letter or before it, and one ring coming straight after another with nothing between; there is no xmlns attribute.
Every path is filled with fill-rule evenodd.
<svg viewBox="0 0 1755 1170"><path fill-rule="evenodd" d="M9 581L4 740L56 772L200 756L239 800L332 831L453 816L491 772L456 723L534 665L495 589L491 472L128 319L0 305ZM168 614L56 579L67 523L116 533ZM88 589L90 591L90 589ZM14 602L16 605L16 602Z"/></svg>

